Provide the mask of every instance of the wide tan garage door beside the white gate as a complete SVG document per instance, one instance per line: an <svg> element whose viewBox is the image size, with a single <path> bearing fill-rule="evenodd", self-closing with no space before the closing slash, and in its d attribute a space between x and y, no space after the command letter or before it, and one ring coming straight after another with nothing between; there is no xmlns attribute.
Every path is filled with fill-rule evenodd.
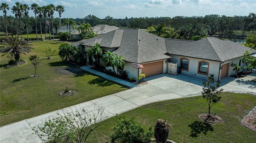
<svg viewBox="0 0 256 143"><path fill-rule="evenodd" d="M163 61L143 64L143 67L142 72L146 77L163 73Z"/></svg>

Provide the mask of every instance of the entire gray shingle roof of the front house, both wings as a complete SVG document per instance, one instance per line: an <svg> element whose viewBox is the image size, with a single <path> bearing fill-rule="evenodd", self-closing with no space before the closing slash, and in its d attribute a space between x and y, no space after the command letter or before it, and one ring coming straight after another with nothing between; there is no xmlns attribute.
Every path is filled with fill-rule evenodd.
<svg viewBox="0 0 256 143"><path fill-rule="evenodd" d="M116 29L78 42L89 47L98 42L102 47L115 49L114 53L132 63L148 63L171 58L165 53L221 62L242 57L246 50L250 51L248 47L215 37L198 41L164 39L140 29Z"/></svg>

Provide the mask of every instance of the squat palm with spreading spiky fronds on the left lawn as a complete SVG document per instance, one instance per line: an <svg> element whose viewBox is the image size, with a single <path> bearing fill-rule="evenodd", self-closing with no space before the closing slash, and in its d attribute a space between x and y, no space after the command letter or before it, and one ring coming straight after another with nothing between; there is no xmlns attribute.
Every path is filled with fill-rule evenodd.
<svg viewBox="0 0 256 143"><path fill-rule="evenodd" d="M20 61L20 54L26 55L26 53L30 52L30 49L34 49L31 47L32 45L30 43L23 43L22 39L19 40L17 36L15 38L6 36L4 40L6 41L6 44L1 53L6 52L4 55L14 55L16 61Z"/></svg>

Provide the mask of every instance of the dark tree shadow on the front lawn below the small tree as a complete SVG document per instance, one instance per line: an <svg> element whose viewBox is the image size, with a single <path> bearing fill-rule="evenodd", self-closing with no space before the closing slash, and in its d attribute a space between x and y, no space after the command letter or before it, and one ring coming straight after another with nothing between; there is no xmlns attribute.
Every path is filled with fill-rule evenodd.
<svg viewBox="0 0 256 143"><path fill-rule="evenodd" d="M212 125L204 121L194 121L188 127L191 128L190 137L198 137L200 133L206 135L208 131L213 131Z"/></svg>

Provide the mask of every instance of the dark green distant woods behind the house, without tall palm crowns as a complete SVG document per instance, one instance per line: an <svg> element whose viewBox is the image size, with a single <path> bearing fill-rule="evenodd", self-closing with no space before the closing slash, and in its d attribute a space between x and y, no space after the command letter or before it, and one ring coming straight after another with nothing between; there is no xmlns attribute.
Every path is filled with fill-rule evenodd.
<svg viewBox="0 0 256 143"><path fill-rule="evenodd" d="M60 7L60 6L59 6ZM12 9L14 10L14 9ZM14 12L14 11L13 11ZM7 29L10 35L16 35L17 32L26 33L26 21L24 18L20 19L20 24L18 22L18 17L8 16L10 11L7 10L6 20L4 20L4 16L0 16L0 31L6 31L6 23ZM42 11L44 14L44 10ZM44 24L44 20L46 16L42 16L42 20L40 20L39 15L34 16L34 13L29 14L26 17L28 23L28 33L36 33L36 24L40 25L42 22L42 33L45 33L48 25ZM67 18L56 17L53 18L53 27L54 29L58 29L59 25L63 25L66 22ZM71 19L71 18L69 18ZM114 25L117 27L124 28L134 28L134 29L147 29L152 25L162 25L165 24L166 27L172 29L171 37L177 39L195 39L194 37L204 37L206 35L222 35L228 38L236 37L234 31L249 31L254 32L256 30L256 13L250 13L248 16L220 16L217 14L211 14L206 16L176 16L173 18L170 17L140 17L140 18L124 18L124 19L116 19L111 16L106 16L103 19L100 19L94 15L89 14L84 18L76 18L72 19L75 24L90 24L92 27L98 24L108 24ZM16 25L20 25L17 28ZM18 30L19 29L19 30ZM37 32L40 32L40 28L37 28ZM48 33L48 32L47 32ZM245 32L241 32L245 33ZM242 37L246 37L246 35L239 35ZM166 37L166 36L165 36ZM198 39L198 38L196 38Z"/></svg>

